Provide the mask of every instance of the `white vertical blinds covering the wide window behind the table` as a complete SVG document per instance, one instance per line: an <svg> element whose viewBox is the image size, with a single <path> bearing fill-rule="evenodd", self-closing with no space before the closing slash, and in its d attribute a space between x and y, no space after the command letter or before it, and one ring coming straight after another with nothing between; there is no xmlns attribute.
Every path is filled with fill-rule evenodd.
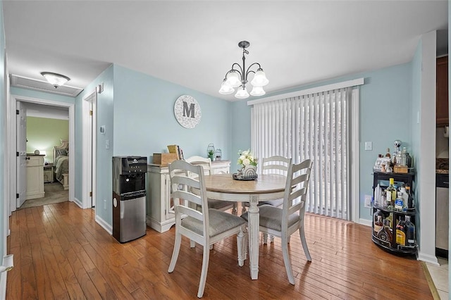
<svg viewBox="0 0 451 300"><path fill-rule="evenodd" d="M252 150L313 162L306 210L349 220L350 126L352 89L280 99L252 107Z"/></svg>

